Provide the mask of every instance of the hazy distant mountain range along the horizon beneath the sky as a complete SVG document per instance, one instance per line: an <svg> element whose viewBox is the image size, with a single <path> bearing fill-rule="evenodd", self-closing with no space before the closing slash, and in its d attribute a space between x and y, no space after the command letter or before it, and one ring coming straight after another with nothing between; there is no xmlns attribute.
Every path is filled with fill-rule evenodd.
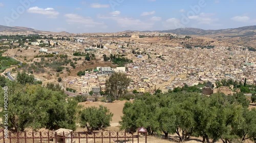
<svg viewBox="0 0 256 143"><path fill-rule="evenodd" d="M34 30L33 28L27 27L9 27L0 25L0 32L34 32L38 34L54 33ZM125 31L135 32L135 31ZM174 33L179 35L197 35L197 36L228 36L228 37L244 37L244 36L256 36L256 25L244 26L239 28L229 28L223 30L202 30L200 28L177 28L175 30L164 30L164 31L143 31L143 32L160 32L160 33ZM56 34L56 33L55 33ZM70 34L67 32L60 32L59 34Z"/></svg>

